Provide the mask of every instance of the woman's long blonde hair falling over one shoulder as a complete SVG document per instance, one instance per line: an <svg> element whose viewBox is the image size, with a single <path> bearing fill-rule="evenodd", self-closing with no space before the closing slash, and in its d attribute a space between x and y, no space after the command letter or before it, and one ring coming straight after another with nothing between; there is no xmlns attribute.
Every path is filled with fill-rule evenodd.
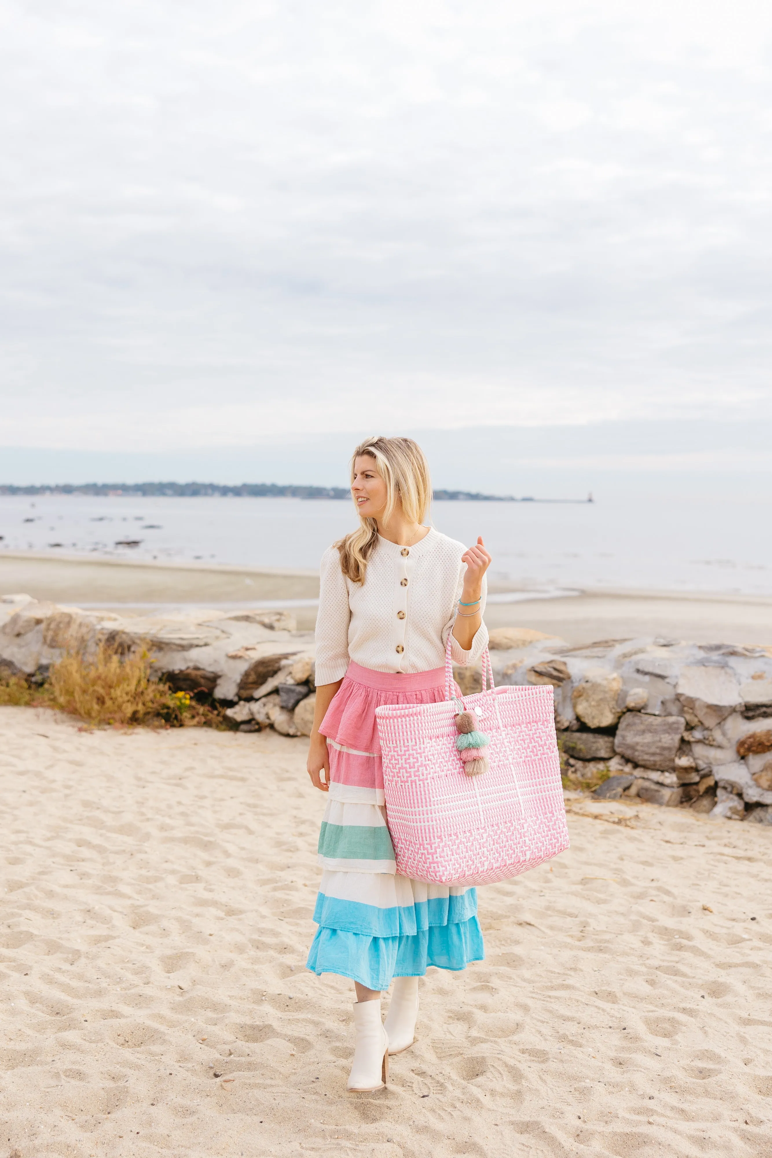
<svg viewBox="0 0 772 1158"><path fill-rule="evenodd" d="M362 455L375 459L381 478L387 484L387 505L383 521L388 522L397 503L411 522L424 522L432 501L429 464L418 442L412 438L368 438L360 442L351 456L351 481L354 481L356 460ZM360 526L334 545L340 555L340 570L352 582L365 582L367 560L378 541L375 519L360 515Z"/></svg>

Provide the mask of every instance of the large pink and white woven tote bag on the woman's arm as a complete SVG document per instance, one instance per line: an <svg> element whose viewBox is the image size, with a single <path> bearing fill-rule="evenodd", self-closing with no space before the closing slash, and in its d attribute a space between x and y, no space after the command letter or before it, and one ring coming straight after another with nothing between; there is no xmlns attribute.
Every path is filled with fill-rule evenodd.
<svg viewBox="0 0 772 1158"><path fill-rule="evenodd" d="M486 690L486 679L491 687ZM552 687L494 688L483 655L483 691L455 694L450 640L447 699L375 710L387 823L397 872L441 884L516 877L568 848ZM456 714L475 712L488 736L490 768L466 776Z"/></svg>

